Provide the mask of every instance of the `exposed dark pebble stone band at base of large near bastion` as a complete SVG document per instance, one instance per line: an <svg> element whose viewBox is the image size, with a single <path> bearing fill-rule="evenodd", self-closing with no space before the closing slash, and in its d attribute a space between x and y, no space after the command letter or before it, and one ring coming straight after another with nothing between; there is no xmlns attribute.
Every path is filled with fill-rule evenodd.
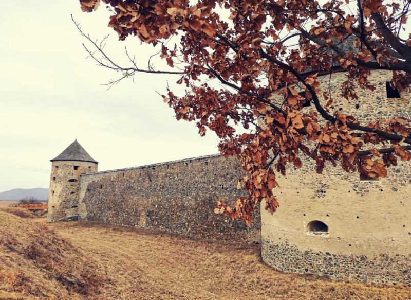
<svg viewBox="0 0 411 300"><path fill-rule="evenodd" d="M312 250L301 251L296 246L262 241L261 256L269 266L279 271L315 274L333 280L353 280L366 284L405 284L411 286L411 255L381 254L341 255Z"/></svg>

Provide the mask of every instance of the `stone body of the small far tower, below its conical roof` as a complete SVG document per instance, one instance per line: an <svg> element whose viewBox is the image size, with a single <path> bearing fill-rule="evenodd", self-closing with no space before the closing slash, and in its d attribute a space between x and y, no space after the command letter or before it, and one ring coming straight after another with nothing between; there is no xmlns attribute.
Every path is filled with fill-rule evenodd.
<svg viewBox="0 0 411 300"><path fill-rule="evenodd" d="M80 174L97 172L97 164L54 161L48 196L49 221L72 220L78 216Z"/></svg>

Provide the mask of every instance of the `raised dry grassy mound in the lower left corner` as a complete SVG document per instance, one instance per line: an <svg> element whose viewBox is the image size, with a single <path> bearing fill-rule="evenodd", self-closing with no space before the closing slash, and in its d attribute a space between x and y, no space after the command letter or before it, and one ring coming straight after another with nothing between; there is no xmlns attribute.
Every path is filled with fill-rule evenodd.
<svg viewBox="0 0 411 300"><path fill-rule="evenodd" d="M84 299L105 279L95 263L44 219L0 209L0 299Z"/></svg>

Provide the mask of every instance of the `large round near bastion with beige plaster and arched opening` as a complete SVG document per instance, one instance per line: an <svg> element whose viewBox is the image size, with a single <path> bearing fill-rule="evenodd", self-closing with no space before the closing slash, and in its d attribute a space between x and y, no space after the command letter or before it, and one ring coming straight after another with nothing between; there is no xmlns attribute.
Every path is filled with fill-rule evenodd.
<svg viewBox="0 0 411 300"><path fill-rule="evenodd" d="M345 73L332 74L330 112L342 109L364 125L377 117L409 121L409 94L393 94L390 78L389 72L373 71L369 80L376 90L358 89L358 100L346 100L339 88ZM322 85L328 89L326 78ZM261 255L267 264L337 280L411 285L411 162L398 158L387 178L361 180L359 173L329 164L317 174L313 161L303 160L302 168L290 166L277 181L276 213L261 204Z"/></svg>

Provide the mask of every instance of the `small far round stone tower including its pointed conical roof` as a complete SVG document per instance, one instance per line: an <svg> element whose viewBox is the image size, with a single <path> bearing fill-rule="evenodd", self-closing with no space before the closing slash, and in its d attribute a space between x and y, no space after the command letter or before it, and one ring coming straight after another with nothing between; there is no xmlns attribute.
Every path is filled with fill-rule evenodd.
<svg viewBox="0 0 411 300"><path fill-rule="evenodd" d="M79 214L80 175L97 172L96 162L77 139L50 162L49 221L76 220Z"/></svg>

